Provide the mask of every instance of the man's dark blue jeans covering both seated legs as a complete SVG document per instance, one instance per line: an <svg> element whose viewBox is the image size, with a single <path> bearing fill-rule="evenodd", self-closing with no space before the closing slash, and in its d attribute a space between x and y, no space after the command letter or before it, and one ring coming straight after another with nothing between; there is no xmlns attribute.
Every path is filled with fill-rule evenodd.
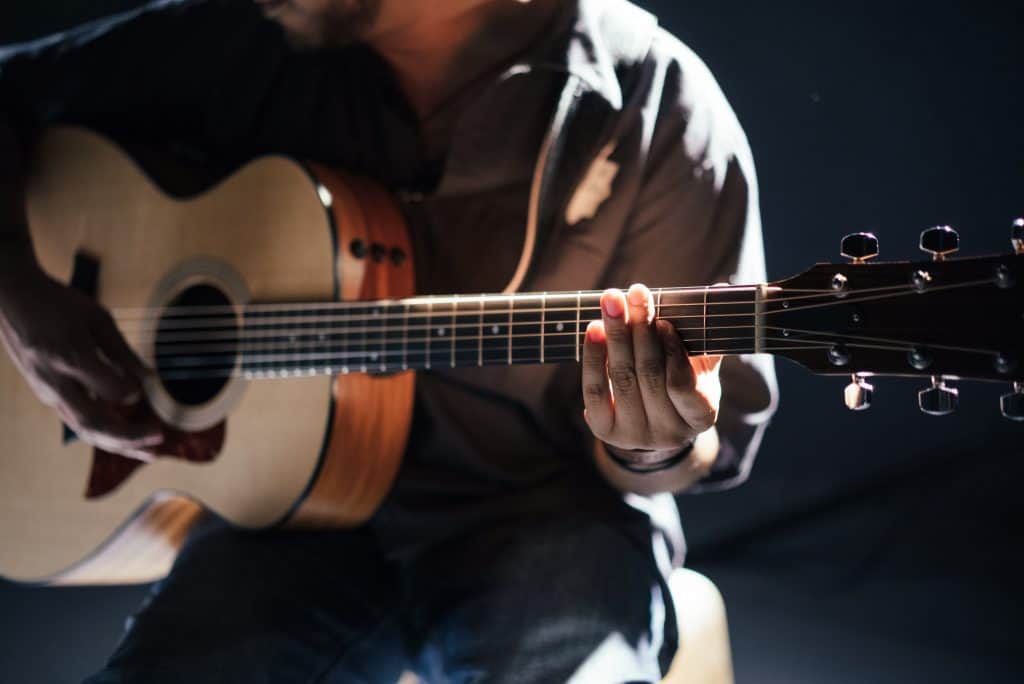
<svg viewBox="0 0 1024 684"><path fill-rule="evenodd" d="M371 528L251 532L210 518L86 681L391 684L411 670L428 682L656 682L676 623L657 537L637 517L639 535L535 515L401 563Z"/></svg>

